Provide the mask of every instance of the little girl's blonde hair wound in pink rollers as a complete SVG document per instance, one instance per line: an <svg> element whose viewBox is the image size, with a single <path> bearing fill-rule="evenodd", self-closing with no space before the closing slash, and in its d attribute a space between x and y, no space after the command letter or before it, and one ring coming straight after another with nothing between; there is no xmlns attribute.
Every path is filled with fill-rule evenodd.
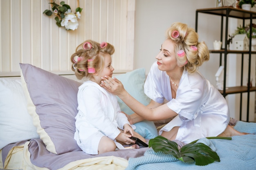
<svg viewBox="0 0 256 170"><path fill-rule="evenodd" d="M100 72L104 66L103 54L112 55L114 52L114 46L106 42L99 44L92 40L86 40L81 43L70 57L70 61L73 63L71 68L75 72L76 78L89 80L92 74L88 73L88 67L94 68L95 72ZM79 59L77 59L78 57ZM88 62L88 59L93 60Z"/></svg>

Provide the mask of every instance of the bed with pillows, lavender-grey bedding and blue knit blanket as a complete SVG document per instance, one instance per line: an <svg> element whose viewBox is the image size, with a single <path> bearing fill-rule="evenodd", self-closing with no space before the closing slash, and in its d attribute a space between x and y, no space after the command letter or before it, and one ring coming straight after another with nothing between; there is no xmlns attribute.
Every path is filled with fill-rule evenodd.
<svg viewBox="0 0 256 170"><path fill-rule="evenodd" d="M256 135L232 140L200 139L220 156L220 162L195 166L155 153L152 148L116 150L100 155L81 151L74 140L76 94L81 82L30 64L20 63L20 79L0 78L0 168L67 169L255 169ZM147 105L143 92L145 69L116 76L137 100ZM121 109L132 111L119 98ZM135 124L147 141L157 136L153 122ZM256 134L256 123L235 122L238 131Z"/></svg>

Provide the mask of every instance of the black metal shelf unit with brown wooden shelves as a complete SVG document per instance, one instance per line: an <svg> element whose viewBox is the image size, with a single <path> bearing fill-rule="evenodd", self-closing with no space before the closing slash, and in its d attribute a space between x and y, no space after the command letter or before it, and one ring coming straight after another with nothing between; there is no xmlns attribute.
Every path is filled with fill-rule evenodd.
<svg viewBox="0 0 256 170"><path fill-rule="evenodd" d="M198 31L198 14L199 13L206 13L210 15L219 15L221 17L221 26L220 26L220 40L223 40L223 31L224 31L224 42L225 47L221 50L210 50L210 53L218 53L220 54L220 65L222 65L222 56L224 56L224 80L223 80L223 90L220 91L220 93L226 97L228 94L238 94L240 93L240 120L242 117L242 93L247 93L247 122L249 122L249 97L250 92L255 92L256 87L250 87L250 83L248 83L247 86L243 86L243 58L244 54L249 55L249 65L248 65L248 80L251 80L250 78L250 72L251 72L251 59L252 54L256 54L256 51L252 51L251 43L252 43L252 37L249 37L249 50L248 51L238 51L238 50L228 50L227 49L227 39L228 39L228 24L229 24L229 17L237 18L243 20L243 26L245 26L245 20L250 21L250 31L252 31L252 20L256 19L256 12L254 11L247 11L243 9L237 9L233 7L218 7L218 8L208 8L208 9L197 9L196 15L195 15L195 31ZM224 17L226 20L224 20ZM225 23L224 23L225 22ZM223 26L225 24L225 30L223 30ZM252 35L252 33L250 33ZM242 61L241 61L241 77L240 77L240 86L236 87L228 87L226 89L226 74L227 74L227 55L228 54L241 54L242 55Z"/></svg>

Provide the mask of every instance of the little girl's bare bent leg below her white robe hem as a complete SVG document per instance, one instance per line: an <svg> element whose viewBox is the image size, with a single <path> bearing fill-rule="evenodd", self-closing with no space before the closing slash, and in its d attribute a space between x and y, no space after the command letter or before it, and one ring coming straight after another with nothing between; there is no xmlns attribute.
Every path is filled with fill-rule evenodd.
<svg viewBox="0 0 256 170"><path fill-rule="evenodd" d="M115 151L116 148L117 146L112 139L103 136L99 141L98 154Z"/></svg>

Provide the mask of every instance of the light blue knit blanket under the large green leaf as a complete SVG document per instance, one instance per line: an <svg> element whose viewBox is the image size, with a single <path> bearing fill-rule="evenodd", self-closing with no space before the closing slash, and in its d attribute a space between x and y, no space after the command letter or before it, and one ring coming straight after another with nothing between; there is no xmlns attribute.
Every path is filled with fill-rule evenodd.
<svg viewBox="0 0 256 170"><path fill-rule="evenodd" d="M238 121L234 128L256 134L256 123ZM256 135L233 136L232 140L202 138L198 142L214 150L220 162L197 166L149 149L143 157L130 158L126 170L256 170Z"/></svg>

